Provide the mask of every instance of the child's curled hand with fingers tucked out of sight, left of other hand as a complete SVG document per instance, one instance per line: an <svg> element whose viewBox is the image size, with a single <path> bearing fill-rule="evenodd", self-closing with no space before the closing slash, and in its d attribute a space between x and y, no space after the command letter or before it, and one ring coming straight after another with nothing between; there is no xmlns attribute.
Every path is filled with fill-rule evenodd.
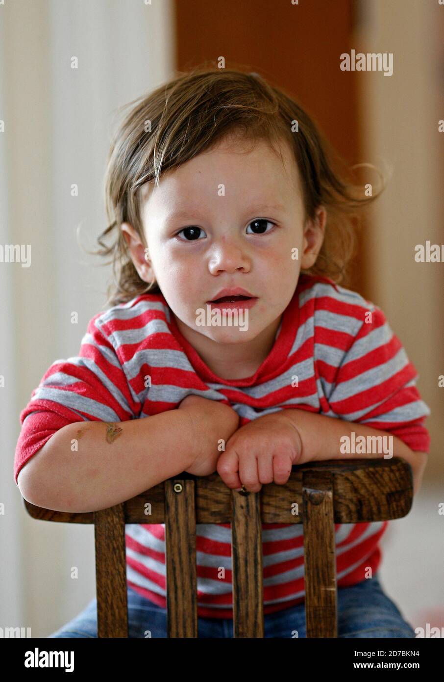
<svg viewBox="0 0 444 682"><path fill-rule="evenodd" d="M226 443L236 431L239 415L229 405L201 396L187 396L178 409L188 411L193 425L191 464L186 471L195 476L209 476L216 471L221 454L219 441Z"/></svg>

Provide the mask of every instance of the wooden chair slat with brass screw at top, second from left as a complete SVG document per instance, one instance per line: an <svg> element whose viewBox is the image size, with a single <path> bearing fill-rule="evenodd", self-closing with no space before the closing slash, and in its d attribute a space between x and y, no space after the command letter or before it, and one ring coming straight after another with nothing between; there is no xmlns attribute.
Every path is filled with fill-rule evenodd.
<svg viewBox="0 0 444 682"><path fill-rule="evenodd" d="M169 637L197 637L194 481L165 481L165 565Z"/></svg>

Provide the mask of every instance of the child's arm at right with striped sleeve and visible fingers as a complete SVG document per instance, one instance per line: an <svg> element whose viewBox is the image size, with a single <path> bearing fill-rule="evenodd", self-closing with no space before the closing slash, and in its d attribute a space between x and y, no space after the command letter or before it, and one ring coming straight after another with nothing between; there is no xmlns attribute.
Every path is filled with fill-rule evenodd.
<svg viewBox="0 0 444 682"><path fill-rule="evenodd" d="M324 414L285 407L250 421L227 441L217 471L229 488L244 484L257 492L264 483L284 484L293 464L313 460L392 456L411 465L413 494L419 490L430 442L423 422L430 409L417 391L417 372L400 340L383 312L370 306L372 321L362 322L341 356L334 349L336 370L329 362L328 346L323 346L319 359L315 357ZM359 436L372 445L364 448L365 453L353 447ZM385 452L375 449L377 441L368 441L367 436L382 436L382 445L388 445Z"/></svg>

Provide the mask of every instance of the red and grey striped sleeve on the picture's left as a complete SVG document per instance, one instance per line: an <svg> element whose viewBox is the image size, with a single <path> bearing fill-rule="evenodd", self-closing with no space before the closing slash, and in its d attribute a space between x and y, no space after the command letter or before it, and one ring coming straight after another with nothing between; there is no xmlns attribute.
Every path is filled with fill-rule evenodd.
<svg viewBox="0 0 444 682"><path fill-rule="evenodd" d="M46 371L20 413L20 436L14 456L17 482L22 466L59 429L76 421L127 421L140 402L109 338L95 315L82 338L77 357L56 360Z"/></svg>

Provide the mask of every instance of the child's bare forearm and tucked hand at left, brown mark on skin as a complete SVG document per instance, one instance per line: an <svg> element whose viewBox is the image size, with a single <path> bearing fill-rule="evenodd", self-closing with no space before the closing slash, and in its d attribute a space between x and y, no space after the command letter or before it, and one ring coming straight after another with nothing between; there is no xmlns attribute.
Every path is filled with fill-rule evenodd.
<svg viewBox="0 0 444 682"><path fill-rule="evenodd" d="M218 441L227 441L238 422L228 405L187 396L179 409L143 419L67 424L22 467L18 487L38 507L106 509L183 471L216 471Z"/></svg>

